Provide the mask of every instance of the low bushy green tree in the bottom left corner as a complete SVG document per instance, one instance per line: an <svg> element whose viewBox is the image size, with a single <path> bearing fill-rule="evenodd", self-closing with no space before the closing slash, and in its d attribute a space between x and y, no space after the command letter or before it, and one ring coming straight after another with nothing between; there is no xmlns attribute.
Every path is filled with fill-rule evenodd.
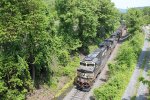
<svg viewBox="0 0 150 100"><path fill-rule="evenodd" d="M17 57L17 61L9 57L1 58L0 64L4 67L0 66L0 99L25 99L25 94L33 89L33 83L25 60L20 56ZM2 69L4 70L2 71Z"/></svg>

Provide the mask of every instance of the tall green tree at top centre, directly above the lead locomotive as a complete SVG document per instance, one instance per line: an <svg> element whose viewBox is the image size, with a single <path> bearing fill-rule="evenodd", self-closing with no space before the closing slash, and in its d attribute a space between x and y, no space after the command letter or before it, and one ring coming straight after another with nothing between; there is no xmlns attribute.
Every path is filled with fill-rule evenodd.
<svg viewBox="0 0 150 100"><path fill-rule="evenodd" d="M90 39L96 36L97 0L57 0L60 19L59 33L65 37L71 50L86 48Z"/></svg>

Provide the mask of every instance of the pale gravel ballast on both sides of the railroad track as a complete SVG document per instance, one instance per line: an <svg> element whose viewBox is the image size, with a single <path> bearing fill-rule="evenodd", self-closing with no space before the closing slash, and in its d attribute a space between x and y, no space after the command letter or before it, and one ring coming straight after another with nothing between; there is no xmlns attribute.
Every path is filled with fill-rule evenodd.
<svg viewBox="0 0 150 100"><path fill-rule="evenodd" d="M124 32L123 39L125 39L125 38L127 37L127 36L125 35L125 33L126 33L126 32ZM123 40L121 40L121 42L119 42L119 43L116 45L114 51L112 52L112 54L111 54L111 56L109 57L109 59L108 59L107 62L112 61L112 60L116 57L117 52L118 52L118 49L119 49L120 45L122 44L122 42L123 42ZM107 74L107 73L108 73L108 66L107 66L107 64L106 64L105 67L103 68L101 74L100 74L100 75L97 77L97 79L95 80L95 83L93 84L92 89L91 89L89 92L87 92L86 96L85 96L84 99L82 99L82 100L94 100L94 99L93 99L93 90L94 90L95 88L98 88L99 86L101 86L102 84L104 84L104 83L107 81L107 77L108 77L108 74ZM76 91L76 88L73 87L73 89L64 97L63 100L72 100L71 98L72 98L72 96L74 95L75 91ZM73 100L74 100L74 99L73 99ZM80 99L77 99L77 100L80 100Z"/></svg>

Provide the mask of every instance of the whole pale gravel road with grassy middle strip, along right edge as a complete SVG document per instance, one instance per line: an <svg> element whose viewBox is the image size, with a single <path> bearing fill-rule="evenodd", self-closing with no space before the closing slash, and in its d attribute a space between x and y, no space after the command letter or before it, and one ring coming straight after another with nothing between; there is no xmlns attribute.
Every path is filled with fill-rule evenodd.
<svg viewBox="0 0 150 100"><path fill-rule="evenodd" d="M147 76L148 63L149 63L148 60L150 60L150 57L149 57L150 56L150 49L149 49L150 42L147 40L150 33L145 27L143 28L143 30L145 32L144 46L140 54L136 68L130 79L130 82L125 90L125 93L122 96L122 100L131 100L131 99L146 100L146 94L148 93L148 88L147 88L148 86L143 85L142 83L138 81L138 78L141 76L148 78ZM144 70L142 67L145 67Z"/></svg>

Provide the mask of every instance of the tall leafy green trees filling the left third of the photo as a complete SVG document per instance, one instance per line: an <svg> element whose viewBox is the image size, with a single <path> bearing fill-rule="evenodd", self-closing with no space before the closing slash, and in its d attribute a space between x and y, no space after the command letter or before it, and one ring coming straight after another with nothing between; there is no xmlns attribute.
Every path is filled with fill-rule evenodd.
<svg viewBox="0 0 150 100"><path fill-rule="evenodd" d="M49 12L41 0L1 0L0 13L0 96L24 99L31 76L36 83L50 77Z"/></svg>

